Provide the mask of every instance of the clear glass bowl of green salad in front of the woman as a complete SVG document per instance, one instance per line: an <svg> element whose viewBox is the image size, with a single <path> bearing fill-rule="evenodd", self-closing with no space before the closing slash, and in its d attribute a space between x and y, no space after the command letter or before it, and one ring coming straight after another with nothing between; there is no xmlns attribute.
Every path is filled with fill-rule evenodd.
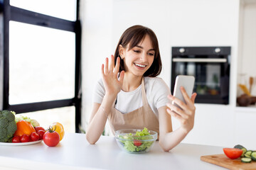
<svg viewBox="0 0 256 170"><path fill-rule="evenodd" d="M145 129L144 129L145 130ZM157 132L146 130L145 135L142 129L124 129L117 130L114 133L114 138L117 140L117 145L128 153L145 153L149 152L154 146L157 139ZM140 135L137 135L139 132Z"/></svg>

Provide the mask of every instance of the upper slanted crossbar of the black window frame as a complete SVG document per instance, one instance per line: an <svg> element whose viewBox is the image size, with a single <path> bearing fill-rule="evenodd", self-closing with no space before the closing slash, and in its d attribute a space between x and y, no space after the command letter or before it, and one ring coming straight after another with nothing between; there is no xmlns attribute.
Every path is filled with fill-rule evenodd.
<svg viewBox="0 0 256 170"><path fill-rule="evenodd" d="M10 11L11 21L18 21L21 23L29 23L36 26L44 26L48 28L56 28L58 30L75 32L75 22L73 21L55 18L53 16L46 16L41 13L28 11L26 9L17 8L15 6L10 6Z"/></svg>

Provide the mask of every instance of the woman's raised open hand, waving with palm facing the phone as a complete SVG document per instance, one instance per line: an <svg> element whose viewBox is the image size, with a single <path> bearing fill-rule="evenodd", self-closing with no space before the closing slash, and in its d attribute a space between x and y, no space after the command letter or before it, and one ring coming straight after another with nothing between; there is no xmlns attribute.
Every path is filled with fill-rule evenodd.
<svg viewBox="0 0 256 170"><path fill-rule="evenodd" d="M119 91L122 89L122 84L124 80L124 71L120 72L119 79L118 79L118 72L119 72L119 65L120 65L120 58L117 57L117 64L114 67L114 56L111 55L110 65L108 58L106 58L105 65L102 64L102 79L103 84L105 86L106 94L117 96Z"/></svg>

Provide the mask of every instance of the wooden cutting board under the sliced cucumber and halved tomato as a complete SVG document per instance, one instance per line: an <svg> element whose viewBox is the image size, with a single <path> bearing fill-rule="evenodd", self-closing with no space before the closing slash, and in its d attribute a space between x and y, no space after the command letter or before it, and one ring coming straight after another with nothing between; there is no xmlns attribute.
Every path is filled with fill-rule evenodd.
<svg viewBox="0 0 256 170"><path fill-rule="evenodd" d="M200 158L203 162L209 162L210 164L215 164L222 166L227 169L233 170L247 170L247 169L256 169L256 162L252 161L250 163L243 163L241 159L229 159L225 154L212 154L201 156Z"/></svg>

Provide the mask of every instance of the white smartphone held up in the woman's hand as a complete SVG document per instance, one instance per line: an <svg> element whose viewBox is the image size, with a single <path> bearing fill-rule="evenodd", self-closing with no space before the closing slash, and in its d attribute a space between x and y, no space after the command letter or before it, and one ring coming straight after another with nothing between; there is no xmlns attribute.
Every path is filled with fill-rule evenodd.
<svg viewBox="0 0 256 170"><path fill-rule="evenodd" d="M183 101L184 103L186 103L186 101L183 98L183 95L181 94L181 86L184 87L189 98L191 98L191 95L193 93L194 83L195 83L195 77L178 75L175 79L174 96L180 99L181 101ZM175 106L178 106L176 105L176 103L174 103L174 101L172 101L172 104Z"/></svg>

